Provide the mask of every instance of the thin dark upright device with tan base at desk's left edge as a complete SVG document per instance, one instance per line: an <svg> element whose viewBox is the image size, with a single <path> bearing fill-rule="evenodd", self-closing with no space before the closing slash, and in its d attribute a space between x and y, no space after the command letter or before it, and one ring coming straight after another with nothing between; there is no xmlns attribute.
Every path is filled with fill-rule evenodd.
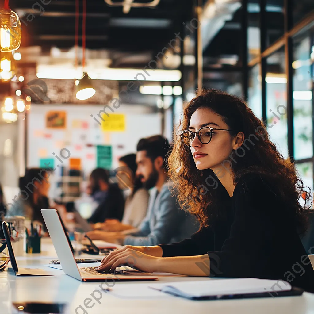
<svg viewBox="0 0 314 314"><path fill-rule="evenodd" d="M8 248L8 252L10 256L11 266L14 270L15 276L54 276L53 273L47 272L43 269L18 267L18 264L15 259L12 243L11 243L10 232L9 232L7 223L5 221L3 221L2 223L2 228L3 228L3 234L4 234L5 242L7 244L7 248Z"/></svg>

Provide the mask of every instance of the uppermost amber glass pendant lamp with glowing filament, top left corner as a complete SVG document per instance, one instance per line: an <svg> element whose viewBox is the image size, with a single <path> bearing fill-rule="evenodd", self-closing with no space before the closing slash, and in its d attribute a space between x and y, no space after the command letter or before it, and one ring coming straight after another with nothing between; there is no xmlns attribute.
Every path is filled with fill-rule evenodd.
<svg viewBox="0 0 314 314"><path fill-rule="evenodd" d="M10 9L9 0L4 0L0 9L0 51L16 50L21 45L22 27L19 16Z"/></svg>

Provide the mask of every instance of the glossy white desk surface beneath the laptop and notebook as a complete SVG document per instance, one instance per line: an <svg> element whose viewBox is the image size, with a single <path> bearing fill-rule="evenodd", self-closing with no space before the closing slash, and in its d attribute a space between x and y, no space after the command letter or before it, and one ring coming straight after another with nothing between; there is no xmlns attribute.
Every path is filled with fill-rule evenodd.
<svg viewBox="0 0 314 314"><path fill-rule="evenodd" d="M94 257L94 256L89 256ZM99 283L83 283L62 270L43 267L51 258L57 259L50 239L44 239L41 254L25 254L17 257L19 267L44 268L53 271L54 277L16 277L9 264L8 270L0 272L0 313L12 313L14 301L41 301L68 303L66 313L99 314L99 313L233 313L233 314L314 314L314 294L304 293L298 297L192 301L171 295L162 294L146 288L154 282L116 282L112 291L102 292L101 304L96 302L91 293L100 290ZM173 281L212 280L201 277L161 277L156 283ZM104 284L106 287L106 285ZM95 293L98 296L97 292ZM93 302L88 309L84 300L90 297ZM79 306L85 310L77 309Z"/></svg>

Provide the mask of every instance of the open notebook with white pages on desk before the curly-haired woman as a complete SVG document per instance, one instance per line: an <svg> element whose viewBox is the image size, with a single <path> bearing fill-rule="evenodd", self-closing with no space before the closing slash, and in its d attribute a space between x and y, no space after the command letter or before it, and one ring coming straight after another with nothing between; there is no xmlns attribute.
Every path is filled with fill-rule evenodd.
<svg viewBox="0 0 314 314"><path fill-rule="evenodd" d="M283 280L257 278L208 279L154 284L149 288L190 300L264 298L301 295L304 290Z"/></svg>

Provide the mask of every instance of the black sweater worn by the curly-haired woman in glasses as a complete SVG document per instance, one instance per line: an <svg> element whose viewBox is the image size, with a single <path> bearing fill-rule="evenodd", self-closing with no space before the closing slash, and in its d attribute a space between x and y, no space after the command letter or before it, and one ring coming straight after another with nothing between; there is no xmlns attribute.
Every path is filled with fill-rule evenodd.
<svg viewBox="0 0 314 314"><path fill-rule="evenodd" d="M230 198L224 194L225 218L191 239L161 245L163 257L208 254L217 277L283 279L314 292L314 271L295 219L275 185L246 175Z"/></svg>

